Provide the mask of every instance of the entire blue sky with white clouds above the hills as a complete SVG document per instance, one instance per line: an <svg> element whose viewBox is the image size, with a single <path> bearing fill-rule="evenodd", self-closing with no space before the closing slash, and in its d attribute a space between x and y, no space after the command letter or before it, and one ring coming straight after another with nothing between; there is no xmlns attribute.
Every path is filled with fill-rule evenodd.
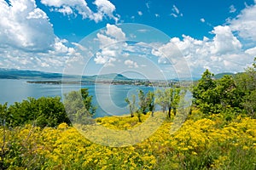
<svg viewBox="0 0 256 170"><path fill-rule="evenodd" d="M0 0L0 68L130 77L240 72L256 0Z"/></svg>

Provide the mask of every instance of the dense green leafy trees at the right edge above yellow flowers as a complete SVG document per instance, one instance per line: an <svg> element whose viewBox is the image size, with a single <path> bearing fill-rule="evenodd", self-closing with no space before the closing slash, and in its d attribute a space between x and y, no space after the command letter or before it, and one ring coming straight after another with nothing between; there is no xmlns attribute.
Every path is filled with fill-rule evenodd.
<svg viewBox="0 0 256 170"><path fill-rule="evenodd" d="M256 62L256 58L254 59ZM256 65L244 73L214 79L205 71L193 88L194 104L207 115L225 112L227 115L247 113L256 118Z"/></svg>

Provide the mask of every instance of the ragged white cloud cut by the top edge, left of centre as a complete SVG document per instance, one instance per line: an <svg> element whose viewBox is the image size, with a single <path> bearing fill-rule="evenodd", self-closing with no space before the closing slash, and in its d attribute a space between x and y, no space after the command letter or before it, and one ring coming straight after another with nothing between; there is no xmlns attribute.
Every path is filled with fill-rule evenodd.
<svg viewBox="0 0 256 170"><path fill-rule="evenodd" d="M78 13L82 15L83 19L94 20L96 23L102 21L104 17L113 19L116 22L119 20L119 16L113 14L115 11L115 6L108 0L95 0L94 4L96 5L96 12L92 11L84 0L41 0L41 3L53 8L54 11L61 14L76 15L76 13Z"/></svg>

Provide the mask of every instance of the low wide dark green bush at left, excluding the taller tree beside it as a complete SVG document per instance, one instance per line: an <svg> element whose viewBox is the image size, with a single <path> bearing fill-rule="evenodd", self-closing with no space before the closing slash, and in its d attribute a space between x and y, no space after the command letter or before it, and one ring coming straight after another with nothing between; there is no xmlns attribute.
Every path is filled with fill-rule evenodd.
<svg viewBox="0 0 256 170"><path fill-rule="evenodd" d="M15 102L7 110L7 125L20 126L32 123L38 127L56 127L62 122L70 124L61 97L28 98Z"/></svg>

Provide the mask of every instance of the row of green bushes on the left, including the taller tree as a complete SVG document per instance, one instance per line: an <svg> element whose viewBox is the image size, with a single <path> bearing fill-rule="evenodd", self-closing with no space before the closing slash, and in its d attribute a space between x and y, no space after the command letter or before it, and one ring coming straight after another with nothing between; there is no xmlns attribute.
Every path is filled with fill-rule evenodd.
<svg viewBox="0 0 256 170"><path fill-rule="evenodd" d="M70 125L71 121L84 121L84 117L91 117L95 113L91 99L88 89L82 88L78 92L65 94L65 107L60 97L28 98L9 107L7 103L0 104L0 123L7 127L29 123L38 127L57 127L62 122Z"/></svg>

